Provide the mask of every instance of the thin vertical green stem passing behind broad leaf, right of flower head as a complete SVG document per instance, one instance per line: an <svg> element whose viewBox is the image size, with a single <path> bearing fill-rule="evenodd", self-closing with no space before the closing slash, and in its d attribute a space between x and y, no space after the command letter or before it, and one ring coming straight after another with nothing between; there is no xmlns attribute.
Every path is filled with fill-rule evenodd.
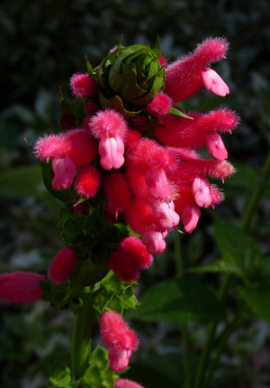
<svg viewBox="0 0 270 388"><path fill-rule="evenodd" d="M175 230L175 267L176 276L178 279L183 277L183 263L181 260L181 240L179 233ZM183 366L184 366L184 388L190 388L190 362L189 362L189 344L188 344L188 330L186 323L180 323L180 330L182 335L182 348L183 348Z"/></svg>

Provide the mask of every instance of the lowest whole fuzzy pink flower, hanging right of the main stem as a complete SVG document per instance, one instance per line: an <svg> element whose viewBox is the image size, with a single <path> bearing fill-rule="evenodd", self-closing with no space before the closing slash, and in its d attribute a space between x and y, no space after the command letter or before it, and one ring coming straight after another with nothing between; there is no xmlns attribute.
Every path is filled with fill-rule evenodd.
<svg viewBox="0 0 270 388"><path fill-rule="evenodd" d="M129 364L131 352L139 346L137 335L115 311L103 313L100 331L104 344L110 347L110 368L113 372L124 370Z"/></svg>

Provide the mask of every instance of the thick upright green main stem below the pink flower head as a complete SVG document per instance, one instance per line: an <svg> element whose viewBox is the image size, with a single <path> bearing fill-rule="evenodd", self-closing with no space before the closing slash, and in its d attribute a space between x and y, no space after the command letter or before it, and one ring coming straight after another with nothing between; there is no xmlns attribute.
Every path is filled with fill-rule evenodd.
<svg viewBox="0 0 270 388"><path fill-rule="evenodd" d="M82 311L76 314L72 338L71 365L75 382L84 375L89 365L93 322L94 307L89 301L84 302Z"/></svg>

